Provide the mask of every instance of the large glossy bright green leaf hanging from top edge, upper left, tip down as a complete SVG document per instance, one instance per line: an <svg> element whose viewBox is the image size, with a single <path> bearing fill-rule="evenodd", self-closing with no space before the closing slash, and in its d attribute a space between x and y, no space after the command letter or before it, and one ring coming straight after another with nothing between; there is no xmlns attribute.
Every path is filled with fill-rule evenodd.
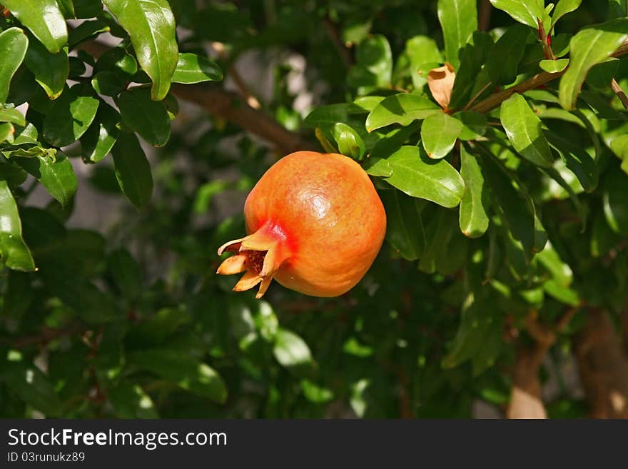
<svg viewBox="0 0 628 469"><path fill-rule="evenodd" d="M161 101L170 89L177 66L175 21L166 0L103 0L131 36L143 71L151 77L151 98Z"/></svg>

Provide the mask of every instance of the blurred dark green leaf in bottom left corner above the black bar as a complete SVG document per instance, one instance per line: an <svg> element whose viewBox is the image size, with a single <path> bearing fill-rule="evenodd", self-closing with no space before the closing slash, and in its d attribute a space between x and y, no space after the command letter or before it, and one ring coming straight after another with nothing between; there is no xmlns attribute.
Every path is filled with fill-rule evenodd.
<svg viewBox="0 0 628 469"><path fill-rule="evenodd" d="M3 0L4 1L4 0ZM61 414L61 402L48 377L33 363L7 360L0 367L0 382L6 383L21 400L46 417Z"/></svg>

